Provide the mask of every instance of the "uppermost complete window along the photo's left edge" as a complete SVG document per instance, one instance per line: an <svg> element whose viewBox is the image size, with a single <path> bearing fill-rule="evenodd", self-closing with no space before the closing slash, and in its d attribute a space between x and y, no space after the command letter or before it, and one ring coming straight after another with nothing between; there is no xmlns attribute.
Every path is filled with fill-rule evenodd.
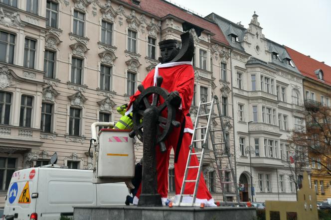
<svg viewBox="0 0 331 220"><path fill-rule="evenodd" d="M13 63L15 48L15 35L0 31L0 61Z"/></svg>

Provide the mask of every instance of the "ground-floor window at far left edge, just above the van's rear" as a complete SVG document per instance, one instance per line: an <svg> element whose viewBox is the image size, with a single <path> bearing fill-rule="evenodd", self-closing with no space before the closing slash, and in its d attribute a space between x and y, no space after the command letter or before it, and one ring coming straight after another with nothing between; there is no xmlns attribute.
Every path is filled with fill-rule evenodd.
<svg viewBox="0 0 331 220"><path fill-rule="evenodd" d="M16 158L0 157L0 191L8 190L11 176L15 172L15 167Z"/></svg>

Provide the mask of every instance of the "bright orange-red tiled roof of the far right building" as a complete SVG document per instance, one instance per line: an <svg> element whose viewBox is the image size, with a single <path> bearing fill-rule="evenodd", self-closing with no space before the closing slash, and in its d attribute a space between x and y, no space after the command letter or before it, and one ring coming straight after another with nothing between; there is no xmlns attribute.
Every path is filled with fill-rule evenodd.
<svg viewBox="0 0 331 220"><path fill-rule="evenodd" d="M315 60L310 56L306 56L305 54L302 54L287 46L285 46L285 48L302 75L331 86L331 66L328 66L323 62ZM324 81L318 79L315 74L315 71L319 69L323 71Z"/></svg>

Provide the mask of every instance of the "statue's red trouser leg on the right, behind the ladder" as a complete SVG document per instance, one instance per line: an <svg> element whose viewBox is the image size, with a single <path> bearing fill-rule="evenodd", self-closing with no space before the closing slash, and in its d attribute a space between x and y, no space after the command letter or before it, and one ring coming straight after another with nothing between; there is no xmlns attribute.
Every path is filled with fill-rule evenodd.
<svg viewBox="0 0 331 220"><path fill-rule="evenodd" d="M184 133L181 142L181 147L178 155L177 163L174 164L174 177L175 177L175 188L176 195L180 194L181 184L184 178L184 172L186 167L187 156L189 152L189 145L191 143L192 134ZM174 152L176 152L176 146L174 145ZM192 150L194 152L194 149ZM198 166L199 162L196 155L191 156L190 166ZM195 180L198 169L189 169L187 174L187 180ZM184 194L193 194L195 183L186 183ZM196 195L197 199L211 199L211 195L208 191L206 183L204 181L202 172L200 173L200 180L198 191Z"/></svg>

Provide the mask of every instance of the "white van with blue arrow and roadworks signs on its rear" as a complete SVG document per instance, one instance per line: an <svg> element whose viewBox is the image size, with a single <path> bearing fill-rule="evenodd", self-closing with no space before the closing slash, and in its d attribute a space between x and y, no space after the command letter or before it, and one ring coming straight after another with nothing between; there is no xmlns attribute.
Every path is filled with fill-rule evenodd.
<svg viewBox="0 0 331 220"><path fill-rule="evenodd" d="M5 220L59 220L73 206L124 205L124 183L93 184L92 170L37 167L13 173L4 207Z"/></svg>

